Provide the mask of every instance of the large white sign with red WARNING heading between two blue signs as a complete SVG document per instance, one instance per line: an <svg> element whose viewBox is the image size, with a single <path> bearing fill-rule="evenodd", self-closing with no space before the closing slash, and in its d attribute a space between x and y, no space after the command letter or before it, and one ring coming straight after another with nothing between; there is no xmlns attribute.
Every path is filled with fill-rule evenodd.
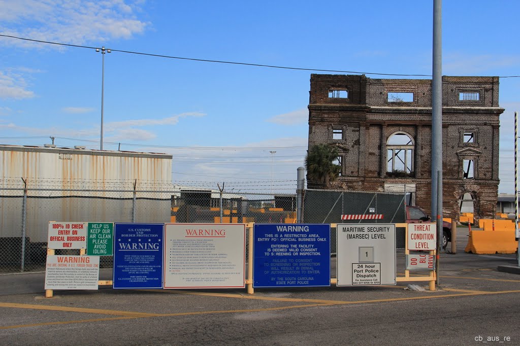
<svg viewBox="0 0 520 346"><path fill-rule="evenodd" d="M245 288L245 224L166 223L163 277L165 289Z"/></svg>

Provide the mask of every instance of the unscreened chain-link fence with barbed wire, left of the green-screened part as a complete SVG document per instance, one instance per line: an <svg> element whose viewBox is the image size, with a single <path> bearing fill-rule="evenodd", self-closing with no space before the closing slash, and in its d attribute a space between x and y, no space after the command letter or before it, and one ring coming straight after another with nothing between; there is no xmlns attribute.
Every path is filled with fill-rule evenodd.
<svg viewBox="0 0 520 346"><path fill-rule="evenodd" d="M49 221L296 222L295 194L236 194L138 181L106 182L104 189L94 181L56 185L20 179L4 181L0 187L0 273L45 270ZM92 186L96 189L85 188ZM59 249L56 254L79 255L79 251ZM101 268L112 265L111 256L101 257Z"/></svg>

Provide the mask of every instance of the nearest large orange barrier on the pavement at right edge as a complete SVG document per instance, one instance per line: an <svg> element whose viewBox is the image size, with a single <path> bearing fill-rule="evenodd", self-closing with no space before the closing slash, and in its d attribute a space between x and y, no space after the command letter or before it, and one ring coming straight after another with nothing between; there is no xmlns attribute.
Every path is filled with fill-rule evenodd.
<svg viewBox="0 0 520 346"><path fill-rule="evenodd" d="M465 252L471 254L514 254L515 231L471 231Z"/></svg>

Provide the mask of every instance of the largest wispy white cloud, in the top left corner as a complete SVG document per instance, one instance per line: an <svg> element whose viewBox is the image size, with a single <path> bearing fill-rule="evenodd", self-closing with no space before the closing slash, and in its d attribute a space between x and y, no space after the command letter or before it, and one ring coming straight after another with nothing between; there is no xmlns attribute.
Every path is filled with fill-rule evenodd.
<svg viewBox="0 0 520 346"><path fill-rule="evenodd" d="M123 0L0 0L0 32L42 41L84 44L131 38L150 24L137 19L137 3ZM19 23L22 23L20 25ZM33 42L0 38L5 45L35 47Z"/></svg>

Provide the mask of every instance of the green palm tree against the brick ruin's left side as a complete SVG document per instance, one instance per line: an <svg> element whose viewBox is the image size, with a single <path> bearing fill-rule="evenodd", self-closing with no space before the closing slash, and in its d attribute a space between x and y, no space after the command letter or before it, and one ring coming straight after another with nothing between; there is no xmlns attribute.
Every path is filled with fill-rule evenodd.
<svg viewBox="0 0 520 346"><path fill-rule="evenodd" d="M333 164L338 155L337 148L330 144L314 144L305 157L307 180L328 186L341 172L341 167Z"/></svg>

